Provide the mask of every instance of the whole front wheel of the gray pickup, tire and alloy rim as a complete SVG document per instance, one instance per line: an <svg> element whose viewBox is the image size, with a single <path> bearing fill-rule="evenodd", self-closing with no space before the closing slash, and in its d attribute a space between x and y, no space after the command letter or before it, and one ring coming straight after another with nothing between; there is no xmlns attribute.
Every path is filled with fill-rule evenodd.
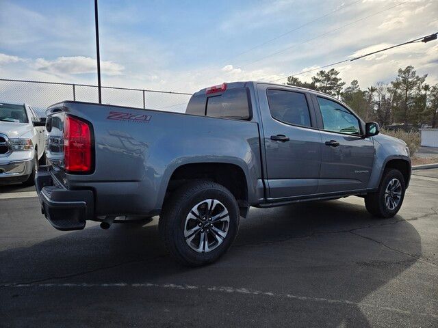
<svg viewBox="0 0 438 328"><path fill-rule="evenodd" d="M405 190L401 172L398 169L385 169L378 190L365 196L365 206L376 217L394 217L402 206Z"/></svg>

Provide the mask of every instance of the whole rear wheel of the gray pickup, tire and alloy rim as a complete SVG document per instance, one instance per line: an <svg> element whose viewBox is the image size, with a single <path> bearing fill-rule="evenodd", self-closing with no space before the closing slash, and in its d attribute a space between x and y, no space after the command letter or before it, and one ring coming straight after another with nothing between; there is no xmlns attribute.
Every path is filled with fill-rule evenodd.
<svg viewBox="0 0 438 328"><path fill-rule="evenodd" d="M233 194L220 184L192 182L164 204L159 231L170 254L189 266L216 261L233 243L239 228Z"/></svg>

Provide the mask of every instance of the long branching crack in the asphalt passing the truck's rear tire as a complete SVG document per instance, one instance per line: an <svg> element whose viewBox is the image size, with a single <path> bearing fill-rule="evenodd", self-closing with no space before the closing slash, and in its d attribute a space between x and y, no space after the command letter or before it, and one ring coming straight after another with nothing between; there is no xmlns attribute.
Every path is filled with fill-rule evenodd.
<svg viewBox="0 0 438 328"><path fill-rule="evenodd" d="M374 227L379 227L379 226L388 226L388 225L392 225L392 224L396 224L396 223L400 223L400 222L405 222L405 221L415 221L417 219L424 219L426 217L432 216L432 215L437 215L438 211L435 208L430 208L431 210L433 210L433 213L426 213L424 215L420 215L419 217L412 217L411 219L399 219L396 221L392 221L392 222L386 222L386 223L378 223L378 224L370 224L368 226L363 226L363 227L358 227L358 228L352 228L350 230L335 230L335 231L321 231L321 232L311 232L311 234L307 234L307 235L303 235L303 236L287 236L287 238L283 238L283 239L279 239L279 240L275 240L275 241L260 241L258 243L245 243L245 244L240 244L240 245L233 245L233 247L245 247L245 246L253 246L253 245L263 245L263 244L274 244L274 243L283 243L289 240L293 240L293 239L302 239L302 238L309 238L312 236L318 236L318 235L324 235L324 234L340 234L340 233L351 233L354 234L355 236L359 236L361 238L365 238L369 241L373 241L374 243L378 243L381 244L385 247L387 247L388 249L391 249L393 251L397 251L400 254L404 254L407 256L410 256L412 258L415 258L417 260L420 260L422 262L426 262L429 264L433 264L435 266L437 266L438 264L436 264L435 262L431 262L429 260L426 260L420 256L416 256L415 254L409 254L407 252L401 251L400 249L395 249L393 247L390 247L388 245L386 245L385 243L381 242L381 241L376 241L373 238L367 237L367 236L363 236L361 234L358 234L357 230L363 230L363 229L368 229L368 228L374 228ZM98 267L95 269L90 269L87 271L81 271L79 273L72 273L70 275L57 275L57 276L53 276L53 277L46 277L46 278L42 278L42 279L36 279L36 280L31 280L31 281L27 281L27 282L16 282L13 284L5 284L5 283L0 283L0 289L1 288L10 288L10 287L14 287L14 286L22 286L22 285L32 285L32 284L40 284L41 282L47 282L50 280L55 280L55 279L68 279L71 277L79 277L81 275L87 275L88 273L94 273L96 271L101 271L101 270L106 270L106 269L113 269L115 267L121 267L125 264L131 264L131 263L138 263L138 262L144 262L146 260L157 260L159 258L165 258L166 255L160 255L160 256L155 256L155 258L143 258L140 260L131 260L131 261L125 261L125 262L120 262L120 263L116 263L116 264L112 264L109 266L104 266L104 267Z"/></svg>

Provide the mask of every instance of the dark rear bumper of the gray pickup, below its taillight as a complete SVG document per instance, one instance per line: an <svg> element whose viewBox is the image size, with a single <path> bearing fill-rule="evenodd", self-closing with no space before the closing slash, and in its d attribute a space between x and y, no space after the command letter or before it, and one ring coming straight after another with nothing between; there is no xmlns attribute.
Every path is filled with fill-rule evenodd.
<svg viewBox="0 0 438 328"><path fill-rule="evenodd" d="M47 166L40 166L35 179L41 210L57 230L81 230L94 217L90 190L69 190L56 184Z"/></svg>

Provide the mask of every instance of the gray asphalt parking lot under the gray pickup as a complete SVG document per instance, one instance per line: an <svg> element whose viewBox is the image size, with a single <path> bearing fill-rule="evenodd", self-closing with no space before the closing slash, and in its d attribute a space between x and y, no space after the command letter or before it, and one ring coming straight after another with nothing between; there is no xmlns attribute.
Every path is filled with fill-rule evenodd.
<svg viewBox="0 0 438 328"><path fill-rule="evenodd" d="M1 187L2 327L438 327L438 169L400 213L359 197L251 209L219 262L188 269L157 219L60 232ZM1 198L1 197L0 197Z"/></svg>

